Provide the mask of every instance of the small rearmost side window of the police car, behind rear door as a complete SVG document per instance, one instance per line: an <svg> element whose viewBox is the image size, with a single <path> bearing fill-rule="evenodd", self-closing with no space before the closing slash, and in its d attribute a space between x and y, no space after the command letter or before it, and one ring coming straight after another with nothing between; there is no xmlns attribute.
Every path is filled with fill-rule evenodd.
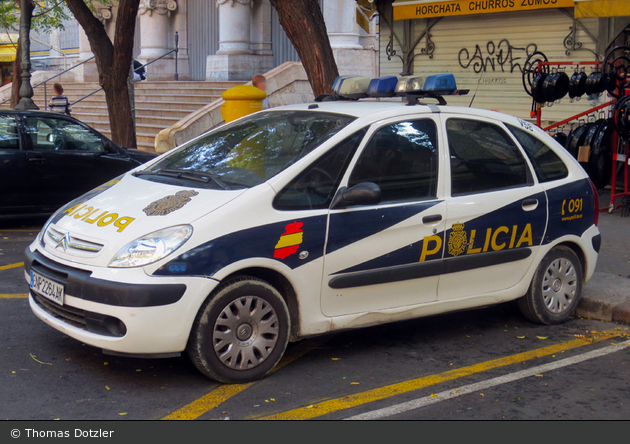
<svg viewBox="0 0 630 444"><path fill-rule="evenodd" d="M527 157L534 165L539 182L564 179L569 175L569 170L562 159L544 142L520 128L512 125L506 126L525 149Z"/></svg>

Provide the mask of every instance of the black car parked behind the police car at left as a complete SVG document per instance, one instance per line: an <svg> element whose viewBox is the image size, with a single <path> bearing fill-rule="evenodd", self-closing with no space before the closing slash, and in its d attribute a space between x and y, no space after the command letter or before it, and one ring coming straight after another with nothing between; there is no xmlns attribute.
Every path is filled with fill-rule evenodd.
<svg viewBox="0 0 630 444"><path fill-rule="evenodd" d="M72 117L0 111L0 219L52 213L155 156Z"/></svg>

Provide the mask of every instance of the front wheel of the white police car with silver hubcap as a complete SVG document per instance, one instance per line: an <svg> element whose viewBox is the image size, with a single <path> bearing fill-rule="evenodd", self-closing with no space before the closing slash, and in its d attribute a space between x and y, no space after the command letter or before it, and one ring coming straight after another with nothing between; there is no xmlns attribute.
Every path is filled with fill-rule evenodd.
<svg viewBox="0 0 630 444"><path fill-rule="evenodd" d="M222 383L254 381L280 361L291 321L278 290L254 277L221 284L199 309L188 355L204 375Z"/></svg>

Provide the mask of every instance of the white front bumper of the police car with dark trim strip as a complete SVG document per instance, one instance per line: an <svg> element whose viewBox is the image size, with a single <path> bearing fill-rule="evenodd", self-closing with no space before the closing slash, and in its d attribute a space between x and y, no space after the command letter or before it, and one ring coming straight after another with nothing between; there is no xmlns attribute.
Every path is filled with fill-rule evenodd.
<svg viewBox="0 0 630 444"><path fill-rule="evenodd" d="M25 278L33 269L65 286L59 306L29 294L33 313L86 344L129 354L181 352L199 307L218 282L203 277L155 277L142 268L110 269L53 258L33 244Z"/></svg>

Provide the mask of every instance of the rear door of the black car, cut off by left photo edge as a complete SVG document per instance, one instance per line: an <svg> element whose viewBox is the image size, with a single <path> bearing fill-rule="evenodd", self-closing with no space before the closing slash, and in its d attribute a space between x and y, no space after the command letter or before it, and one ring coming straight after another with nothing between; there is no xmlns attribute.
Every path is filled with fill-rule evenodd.
<svg viewBox="0 0 630 444"><path fill-rule="evenodd" d="M19 118L0 114L0 216L27 212L26 151Z"/></svg>

